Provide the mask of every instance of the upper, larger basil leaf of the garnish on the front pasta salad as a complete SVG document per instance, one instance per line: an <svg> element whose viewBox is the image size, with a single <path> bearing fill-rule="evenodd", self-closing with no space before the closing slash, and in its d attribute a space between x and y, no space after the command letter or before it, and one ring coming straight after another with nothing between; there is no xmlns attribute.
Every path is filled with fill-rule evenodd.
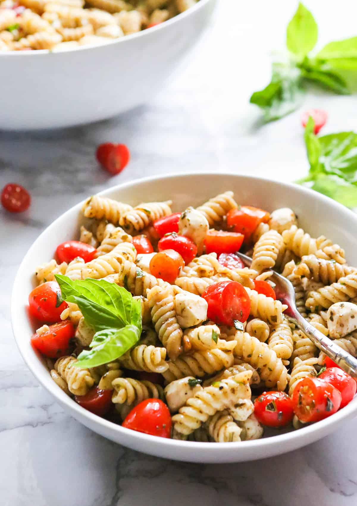
<svg viewBox="0 0 357 506"><path fill-rule="evenodd" d="M137 325L141 328L141 306L130 292L103 279L72 281L56 274L62 298L78 305L85 320L96 330Z"/></svg>

